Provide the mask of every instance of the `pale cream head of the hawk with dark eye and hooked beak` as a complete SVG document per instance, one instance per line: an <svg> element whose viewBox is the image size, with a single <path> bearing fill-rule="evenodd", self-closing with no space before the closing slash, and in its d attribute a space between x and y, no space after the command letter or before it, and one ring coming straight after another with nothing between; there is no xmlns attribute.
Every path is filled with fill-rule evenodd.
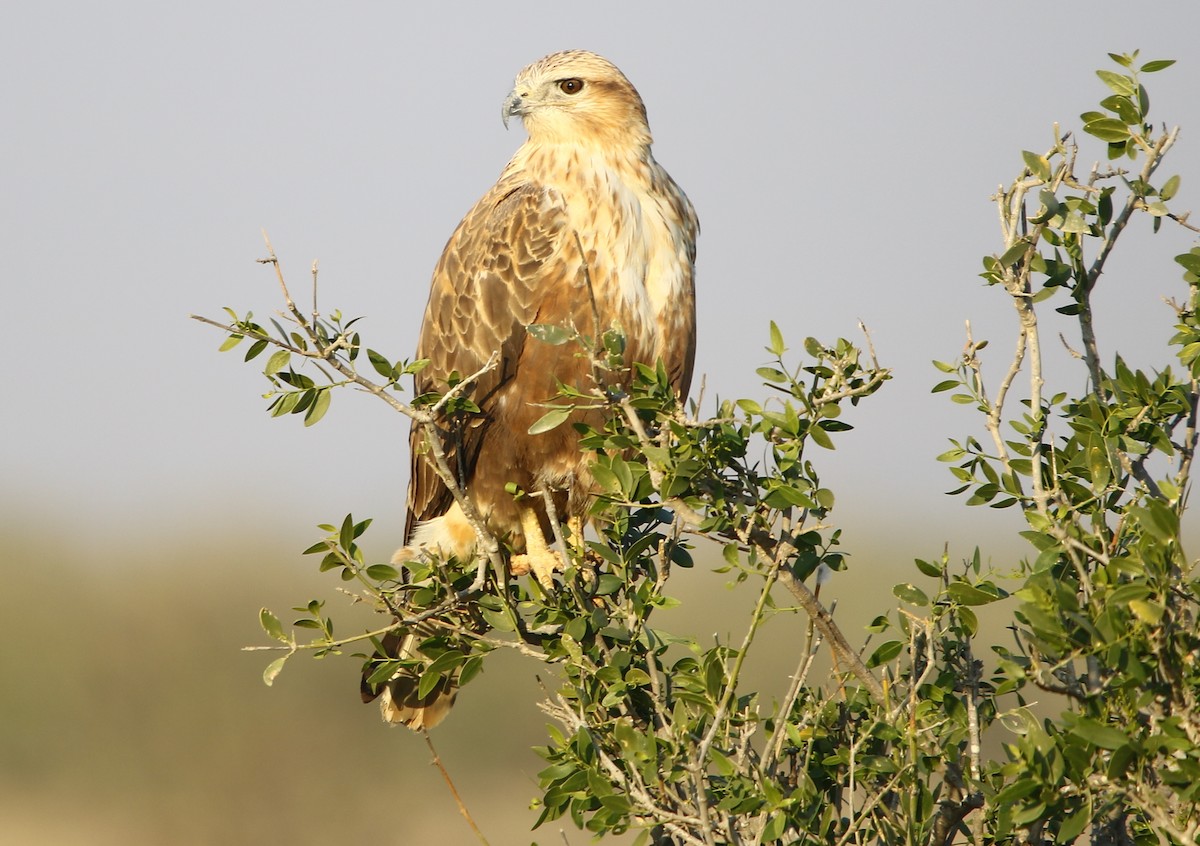
<svg viewBox="0 0 1200 846"><path fill-rule="evenodd" d="M637 89L616 65L587 50L552 53L526 67L500 114L505 126L509 118L521 118L535 143L650 143Z"/></svg>

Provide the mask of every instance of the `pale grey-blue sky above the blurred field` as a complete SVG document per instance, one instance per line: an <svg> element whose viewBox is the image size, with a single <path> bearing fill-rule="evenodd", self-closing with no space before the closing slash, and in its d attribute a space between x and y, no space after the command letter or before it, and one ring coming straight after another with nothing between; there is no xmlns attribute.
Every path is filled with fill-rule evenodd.
<svg viewBox="0 0 1200 846"><path fill-rule="evenodd" d="M1190 4L1153 16L1104 4L458 8L5 13L6 499L89 532L208 514L304 527L354 510L398 536L406 421L360 396L312 430L271 420L257 368L218 355L220 336L187 316L280 306L254 263L265 228L294 287L319 259L323 308L364 316L371 346L410 355L445 239L523 139L499 120L514 74L583 47L638 86L655 155L698 210L708 397L763 396L754 370L769 320L797 350L808 335L858 337L863 320L895 379L847 415L857 430L829 457L846 518L974 521L942 496L949 476L932 461L974 420L929 395L929 362L958 354L968 318L995 338L992 373L1010 348L1008 307L976 277L998 244L990 194L1021 150L1049 145L1052 121L1075 126L1104 96L1092 71L1106 50L1181 60L1151 78L1153 114L1186 127L1170 167L1200 161ZM1099 155L1091 145L1081 160ZM1193 191L1184 179L1177 203ZM1170 329L1157 298L1135 294L1178 293L1170 257L1189 245L1182 232L1142 240L1151 258L1132 245L1112 271L1138 266L1138 278L1100 294L1102 322L1134 348Z"/></svg>

